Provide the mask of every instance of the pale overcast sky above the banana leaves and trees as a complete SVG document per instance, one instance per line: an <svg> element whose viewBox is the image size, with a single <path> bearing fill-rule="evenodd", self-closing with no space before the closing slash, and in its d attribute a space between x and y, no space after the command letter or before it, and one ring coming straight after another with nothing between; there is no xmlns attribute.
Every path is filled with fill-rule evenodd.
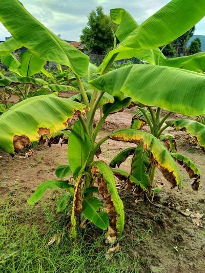
<svg viewBox="0 0 205 273"><path fill-rule="evenodd" d="M103 6L106 13L109 13L111 8L124 8L131 13L138 23L142 23L169 1L21 0L26 9L55 34L60 34L61 38L66 40L74 41L79 40L81 30L87 24L87 16L96 6ZM205 18L197 24L195 34L205 35ZM10 34L3 25L0 25L0 40L5 40L7 36Z"/></svg>

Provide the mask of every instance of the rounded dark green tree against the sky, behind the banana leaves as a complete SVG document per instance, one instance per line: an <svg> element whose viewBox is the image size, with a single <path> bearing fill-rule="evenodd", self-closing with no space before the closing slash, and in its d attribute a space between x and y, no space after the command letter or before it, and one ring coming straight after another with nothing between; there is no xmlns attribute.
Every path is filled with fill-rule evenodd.
<svg viewBox="0 0 205 273"><path fill-rule="evenodd" d="M111 29L115 31L117 26L103 12L103 7L99 6L96 11L91 11L87 25L80 35L80 41L85 44L86 50L94 54L107 53L114 45Z"/></svg>

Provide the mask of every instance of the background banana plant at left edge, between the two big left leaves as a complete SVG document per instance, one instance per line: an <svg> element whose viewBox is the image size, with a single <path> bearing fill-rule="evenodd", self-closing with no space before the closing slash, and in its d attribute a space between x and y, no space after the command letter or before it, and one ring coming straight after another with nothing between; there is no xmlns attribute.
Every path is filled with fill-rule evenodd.
<svg viewBox="0 0 205 273"><path fill-rule="evenodd" d="M12 41L12 38L9 40ZM8 43L8 41L5 43ZM4 51L2 53L0 52L0 55L2 55L0 58L3 64L9 68L9 71L16 74L16 79L14 79L13 76L5 77L1 75L0 87L7 92L17 95L20 100L32 96L46 95L52 92L77 91L77 89L72 86L62 85L62 82L54 81L53 75L44 68L45 60L40 59L30 50L21 53L19 56L20 60L13 54L4 55ZM39 78L39 75L31 78L38 73L43 73L47 81ZM68 71L64 72L64 74L65 73L68 75ZM51 79L49 80L49 78Z"/></svg>

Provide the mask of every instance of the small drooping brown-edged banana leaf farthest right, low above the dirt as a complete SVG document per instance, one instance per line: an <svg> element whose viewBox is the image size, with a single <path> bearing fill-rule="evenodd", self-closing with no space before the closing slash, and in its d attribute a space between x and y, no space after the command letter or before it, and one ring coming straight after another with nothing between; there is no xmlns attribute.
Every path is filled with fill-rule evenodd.
<svg viewBox="0 0 205 273"><path fill-rule="evenodd" d="M196 164L185 155L181 155L178 153L172 153L171 155L177 160L177 162L180 165L182 165L186 169L190 178L195 178L194 183L192 184L192 188L194 191L198 191L201 178L200 178L200 172Z"/></svg>

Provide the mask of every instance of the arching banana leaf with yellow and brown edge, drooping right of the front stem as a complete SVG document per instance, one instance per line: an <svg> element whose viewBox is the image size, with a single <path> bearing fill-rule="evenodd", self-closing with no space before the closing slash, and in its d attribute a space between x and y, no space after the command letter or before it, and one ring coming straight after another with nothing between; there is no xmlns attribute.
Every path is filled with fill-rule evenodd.
<svg viewBox="0 0 205 273"><path fill-rule="evenodd" d="M109 138L137 145L142 142L144 150L148 150L150 153L151 163L158 167L162 175L172 184L172 188L181 185L180 174L175 161L165 146L153 135L134 129L125 129L110 134Z"/></svg>

